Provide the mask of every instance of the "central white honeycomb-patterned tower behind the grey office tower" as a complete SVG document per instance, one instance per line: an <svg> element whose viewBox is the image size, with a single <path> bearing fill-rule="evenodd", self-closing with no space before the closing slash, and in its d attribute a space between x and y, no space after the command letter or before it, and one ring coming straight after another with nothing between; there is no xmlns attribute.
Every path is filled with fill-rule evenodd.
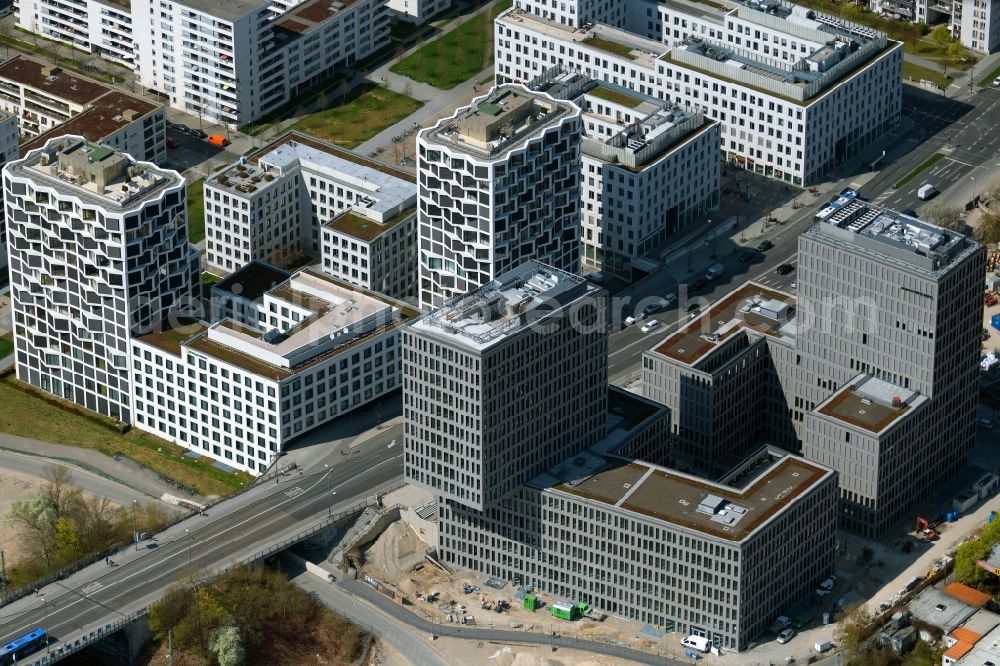
<svg viewBox="0 0 1000 666"><path fill-rule="evenodd" d="M579 272L580 108L506 85L417 136L422 309L525 261Z"/></svg>

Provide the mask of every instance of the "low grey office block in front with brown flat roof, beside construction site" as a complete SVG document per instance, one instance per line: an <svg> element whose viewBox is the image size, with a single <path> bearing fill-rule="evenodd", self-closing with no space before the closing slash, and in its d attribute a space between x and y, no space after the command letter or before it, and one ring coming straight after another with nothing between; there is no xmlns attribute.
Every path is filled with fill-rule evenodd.
<svg viewBox="0 0 1000 666"><path fill-rule="evenodd" d="M454 566L746 650L832 572L836 490L835 471L770 447L717 481L585 451L485 511L441 501L438 552Z"/></svg>

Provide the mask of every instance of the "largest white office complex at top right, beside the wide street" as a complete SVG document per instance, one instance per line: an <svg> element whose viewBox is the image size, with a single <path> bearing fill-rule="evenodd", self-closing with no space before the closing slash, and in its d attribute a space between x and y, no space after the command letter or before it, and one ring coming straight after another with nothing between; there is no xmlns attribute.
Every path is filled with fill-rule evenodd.
<svg viewBox="0 0 1000 666"><path fill-rule="evenodd" d="M497 80L560 66L700 110L722 123L727 161L796 185L899 121L902 45L866 26L784 0L627 7L629 31L590 19L574 28L515 6L496 21Z"/></svg>

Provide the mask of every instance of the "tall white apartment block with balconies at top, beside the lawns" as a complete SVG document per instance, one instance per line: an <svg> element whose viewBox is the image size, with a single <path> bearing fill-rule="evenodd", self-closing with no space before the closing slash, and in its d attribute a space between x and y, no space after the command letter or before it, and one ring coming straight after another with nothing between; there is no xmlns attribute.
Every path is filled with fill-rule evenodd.
<svg viewBox="0 0 1000 666"><path fill-rule="evenodd" d="M234 128L388 39L382 0L136 0L132 19L135 33L148 36L135 45L142 85L175 108Z"/></svg>

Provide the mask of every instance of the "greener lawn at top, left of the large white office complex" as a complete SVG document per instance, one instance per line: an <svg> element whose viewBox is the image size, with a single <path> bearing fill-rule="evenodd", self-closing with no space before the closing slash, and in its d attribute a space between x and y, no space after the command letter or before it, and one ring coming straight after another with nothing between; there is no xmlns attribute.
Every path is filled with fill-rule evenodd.
<svg viewBox="0 0 1000 666"><path fill-rule="evenodd" d="M446 32L389 69L414 81L450 90L493 64L493 19L513 0L501 0L450 32Z"/></svg>

